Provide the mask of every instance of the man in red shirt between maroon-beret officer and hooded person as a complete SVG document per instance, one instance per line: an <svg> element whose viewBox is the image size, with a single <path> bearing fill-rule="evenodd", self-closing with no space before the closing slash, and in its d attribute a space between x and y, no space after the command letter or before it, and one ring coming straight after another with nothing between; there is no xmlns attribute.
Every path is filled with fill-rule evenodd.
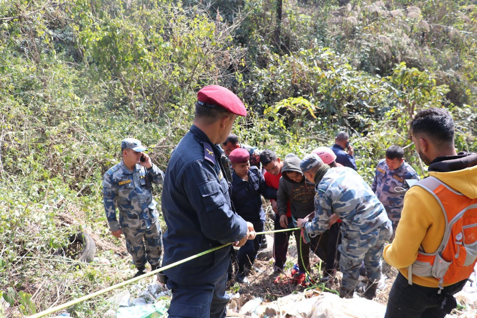
<svg viewBox="0 0 477 318"><path fill-rule="evenodd" d="M262 164L263 168L265 168L265 173L263 174L265 182L268 186L278 190L283 162L277 157L275 152L267 149L261 152L260 163ZM277 201L272 199L270 200L270 203L273 212L275 212L274 228L275 230L282 230L283 227L280 226L280 215L278 215ZM288 224L292 224L290 202L287 204L287 218ZM276 274L282 272L283 267L285 267L285 262L287 261L288 240L290 239L290 235L291 231L274 233L273 258L275 261L273 262L273 268L275 269Z"/></svg>

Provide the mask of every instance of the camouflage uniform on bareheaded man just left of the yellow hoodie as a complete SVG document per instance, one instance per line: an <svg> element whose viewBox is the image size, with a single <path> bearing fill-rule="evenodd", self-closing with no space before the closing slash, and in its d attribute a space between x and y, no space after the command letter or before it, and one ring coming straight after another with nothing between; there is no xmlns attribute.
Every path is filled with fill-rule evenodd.
<svg viewBox="0 0 477 318"><path fill-rule="evenodd" d="M371 189L384 205L389 219L393 222L393 232L396 231L397 224L401 218L405 194L404 190L396 191L395 188L409 189L406 179L419 180L419 176L413 167L403 162L399 168L390 170L386 164L386 159L383 159L376 167L376 175L374 176L373 185L371 185ZM394 238L394 233L392 238Z"/></svg>

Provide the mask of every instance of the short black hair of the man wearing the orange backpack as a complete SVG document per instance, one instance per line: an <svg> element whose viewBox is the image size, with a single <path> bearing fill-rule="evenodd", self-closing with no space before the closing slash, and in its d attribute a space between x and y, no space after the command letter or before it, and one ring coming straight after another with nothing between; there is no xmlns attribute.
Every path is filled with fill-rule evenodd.
<svg viewBox="0 0 477 318"><path fill-rule="evenodd" d="M436 144L454 143L454 120L442 108L428 108L420 111L411 122L413 135L425 134Z"/></svg>

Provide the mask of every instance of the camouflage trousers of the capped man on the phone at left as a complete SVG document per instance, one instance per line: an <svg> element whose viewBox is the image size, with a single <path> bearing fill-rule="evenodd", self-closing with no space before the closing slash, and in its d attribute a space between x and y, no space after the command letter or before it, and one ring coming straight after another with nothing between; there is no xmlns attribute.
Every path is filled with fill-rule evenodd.
<svg viewBox="0 0 477 318"><path fill-rule="evenodd" d="M162 235L159 226L159 218L151 222L147 228L146 222L140 220L135 224L124 224L121 222L124 238L126 239L126 248L133 257L133 263L136 267L145 266L146 259L151 264L152 269L160 265L162 254Z"/></svg>

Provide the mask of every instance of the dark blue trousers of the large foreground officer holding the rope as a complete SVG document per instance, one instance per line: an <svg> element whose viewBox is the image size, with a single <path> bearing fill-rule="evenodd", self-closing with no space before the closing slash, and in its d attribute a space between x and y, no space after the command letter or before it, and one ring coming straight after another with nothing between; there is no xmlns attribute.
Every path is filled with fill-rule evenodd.
<svg viewBox="0 0 477 318"><path fill-rule="evenodd" d="M167 313L171 318L224 318L230 299L225 291L227 273L217 280L200 285L178 285L167 279L172 300Z"/></svg>

